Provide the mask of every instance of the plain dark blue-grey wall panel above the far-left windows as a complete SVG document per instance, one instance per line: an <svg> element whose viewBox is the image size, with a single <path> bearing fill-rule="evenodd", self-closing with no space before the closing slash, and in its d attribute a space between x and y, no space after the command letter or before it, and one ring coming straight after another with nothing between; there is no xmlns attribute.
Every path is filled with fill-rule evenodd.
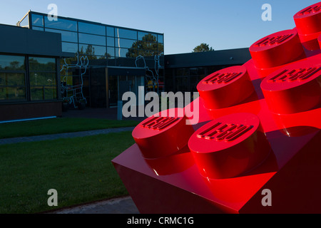
<svg viewBox="0 0 321 228"><path fill-rule="evenodd" d="M0 24L0 53L63 56L61 34Z"/></svg>

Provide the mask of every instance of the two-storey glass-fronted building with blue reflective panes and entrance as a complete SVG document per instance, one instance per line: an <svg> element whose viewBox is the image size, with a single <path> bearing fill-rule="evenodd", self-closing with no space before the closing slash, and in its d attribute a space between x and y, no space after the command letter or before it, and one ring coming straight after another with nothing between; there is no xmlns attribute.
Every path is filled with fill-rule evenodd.
<svg viewBox="0 0 321 228"><path fill-rule="evenodd" d="M18 26L61 34L63 53L87 56L89 65L82 75L83 95L91 107L111 107L126 91L138 93L164 89L163 33L99 24L91 21L29 11ZM75 63L74 57L67 63ZM61 66L64 60L61 60ZM61 79L63 76L61 72ZM66 83L78 83L79 71L68 73ZM63 80L61 80L63 81Z"/></svg>

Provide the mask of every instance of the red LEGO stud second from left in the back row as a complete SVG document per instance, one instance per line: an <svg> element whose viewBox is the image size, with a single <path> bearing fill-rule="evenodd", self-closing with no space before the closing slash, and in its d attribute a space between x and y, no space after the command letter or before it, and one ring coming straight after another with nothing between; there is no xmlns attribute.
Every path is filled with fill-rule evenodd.
<svg viewBox="0 0 321 228"><path fill-rule="evenodd" d="M211 73L198 83L197 89L207 109L236 105L254 91L245 66L231 66Z"/></svg>

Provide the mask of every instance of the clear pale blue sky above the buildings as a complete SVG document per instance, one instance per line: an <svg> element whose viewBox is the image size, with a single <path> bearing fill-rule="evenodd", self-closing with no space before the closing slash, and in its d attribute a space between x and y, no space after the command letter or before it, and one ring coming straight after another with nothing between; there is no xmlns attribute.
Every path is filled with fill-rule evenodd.
<svg viewBox="0 0 321 228"><path fill-rule="evenodd" d="M315 0L0 0L0 24L15 25L26 13L58 16L164 33L165 54L188 53L200 43L215 50L248 48L270 33L295 27L293 15ZM263 21L263 4L272 21Z"/></svg>

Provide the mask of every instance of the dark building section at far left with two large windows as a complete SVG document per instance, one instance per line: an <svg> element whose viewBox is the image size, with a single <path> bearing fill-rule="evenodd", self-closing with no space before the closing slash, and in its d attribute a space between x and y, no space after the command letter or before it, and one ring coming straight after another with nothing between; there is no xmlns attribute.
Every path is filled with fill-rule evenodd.
<svg viewBox="0 0 321 228"><path fill-rule="evenodd" d="M61 36L0 24L0 120L61 115Z"/></svg>

